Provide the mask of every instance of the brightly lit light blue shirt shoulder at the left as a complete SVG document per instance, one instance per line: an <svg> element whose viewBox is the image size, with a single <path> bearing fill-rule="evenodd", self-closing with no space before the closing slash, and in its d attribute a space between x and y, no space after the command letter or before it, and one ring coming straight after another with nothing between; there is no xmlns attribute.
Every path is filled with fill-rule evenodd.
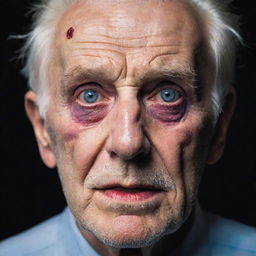
<svg viewBox="0 0 256 256"><path fill-rule="evenodd" d="M64 211L43 223L0 243L0 256L44 255L46 248L56 246L61 240L60 228L62 219L67 213Z"/></svg>

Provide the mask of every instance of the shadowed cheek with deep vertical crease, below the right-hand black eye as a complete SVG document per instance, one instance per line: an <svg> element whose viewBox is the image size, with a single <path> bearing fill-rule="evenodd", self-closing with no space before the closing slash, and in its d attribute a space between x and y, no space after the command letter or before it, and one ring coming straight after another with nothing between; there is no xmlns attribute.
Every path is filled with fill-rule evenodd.
<svg viewBox="0 0 256 256"><path fill-rule="evenodd" d="M151 139L155 151L167 171L173 175L178 187L184 187L190 180L188 176L196 175L196 165L201 165L203 162L202 148L198 141L199 127L198 122L188 120L173 125L153 123Z"/></svg>

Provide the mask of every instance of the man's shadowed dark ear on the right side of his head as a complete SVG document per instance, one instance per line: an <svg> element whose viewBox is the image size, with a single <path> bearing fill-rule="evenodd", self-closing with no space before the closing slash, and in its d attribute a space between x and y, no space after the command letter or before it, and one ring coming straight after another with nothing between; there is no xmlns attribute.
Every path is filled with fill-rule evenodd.
<svg viewBox="0 0 256 256"><path fill-rule="evenodd" d="M215 127L215 133L213 135L211 145L208 152L207 164L216 163L222 156L228 127L233 116L233 112L236 105L236 91L231 87L225 97L222 113L218 119Z"/></svg>

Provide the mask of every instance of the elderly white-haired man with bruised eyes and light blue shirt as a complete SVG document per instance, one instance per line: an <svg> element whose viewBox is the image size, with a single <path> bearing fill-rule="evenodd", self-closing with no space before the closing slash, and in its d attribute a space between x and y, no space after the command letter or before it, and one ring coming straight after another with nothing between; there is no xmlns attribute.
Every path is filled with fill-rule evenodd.
<svg viewBox="0 0 256 256"><path fill-rule="evenodd" d="M211 0L49 0L24 50L25 108L68 208L1 256L256 255L255 229L203 212L239 34Z"/></svg>

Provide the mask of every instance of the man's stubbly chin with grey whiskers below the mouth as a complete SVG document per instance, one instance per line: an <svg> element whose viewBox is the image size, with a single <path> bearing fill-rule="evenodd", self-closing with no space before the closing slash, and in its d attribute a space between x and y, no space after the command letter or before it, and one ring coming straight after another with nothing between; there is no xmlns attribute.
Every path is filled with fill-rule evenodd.
<svg viewBox="0 0 256 256"><path fill-rule="evenodd" d="M159 221L160 219L160 221ZM80 227L106 246L114 248L142 248L157 243L167 234L177 231L184 222L183 211L161 220L155 216L149 220L141 216L122 216L110 221L109 227L83 221ZM108 223L106 221L105 223ZM145 225L146 223L146 225ZM84 232L83 232L84 233Z"/></svg>

